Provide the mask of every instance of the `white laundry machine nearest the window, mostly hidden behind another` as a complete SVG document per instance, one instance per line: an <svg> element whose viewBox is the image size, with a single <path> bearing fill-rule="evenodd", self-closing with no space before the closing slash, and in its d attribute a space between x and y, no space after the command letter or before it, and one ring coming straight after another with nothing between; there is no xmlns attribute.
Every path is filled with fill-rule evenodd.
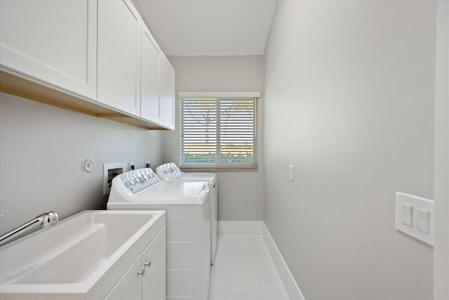
<svg viewBox="0 0 449 300"><path fill-rule="evenodd" d="M212 191L210 197L210 231L212 233L210 247L210 264L215 261L217 253L217 219L218 219L218 180L215 173L185 173L181 171L174 162L161 164L156 168L156 175L164 181L206 181L209 184L209 190Z"/></svg>

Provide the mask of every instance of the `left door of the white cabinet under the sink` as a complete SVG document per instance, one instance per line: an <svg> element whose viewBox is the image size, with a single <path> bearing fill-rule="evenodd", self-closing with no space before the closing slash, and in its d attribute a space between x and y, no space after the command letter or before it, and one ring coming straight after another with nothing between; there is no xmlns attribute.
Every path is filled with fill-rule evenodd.
<svg viewBox="0 0 449 300"><path fill-rule="evenodd" d="M141 300L142 299L142 256L133 263L105 300Z"/></svg>

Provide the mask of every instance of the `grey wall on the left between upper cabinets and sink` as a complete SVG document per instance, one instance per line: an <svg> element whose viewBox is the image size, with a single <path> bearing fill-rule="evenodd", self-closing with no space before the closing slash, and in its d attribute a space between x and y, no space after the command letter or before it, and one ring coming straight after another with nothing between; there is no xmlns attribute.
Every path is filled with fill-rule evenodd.
<svg viewBox="0 0 449 300"><path fill-rule="evenodd" d="M161 162L160 132L0 93L0 232L46 210L106 209L102 164ZM85 173L84 159L95 171Z"/></svg>

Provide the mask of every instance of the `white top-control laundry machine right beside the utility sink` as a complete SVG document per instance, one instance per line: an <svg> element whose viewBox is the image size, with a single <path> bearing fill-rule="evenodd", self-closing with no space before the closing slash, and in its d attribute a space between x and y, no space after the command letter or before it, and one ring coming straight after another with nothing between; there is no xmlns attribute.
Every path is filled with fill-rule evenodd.
<svg viewBox="0 0 449 300"><path fill-rule="evenodd" d="M112 180L107 209L166 211L167 299L208 299L210 195L205 181L162 181L152 169Z"/></svg>

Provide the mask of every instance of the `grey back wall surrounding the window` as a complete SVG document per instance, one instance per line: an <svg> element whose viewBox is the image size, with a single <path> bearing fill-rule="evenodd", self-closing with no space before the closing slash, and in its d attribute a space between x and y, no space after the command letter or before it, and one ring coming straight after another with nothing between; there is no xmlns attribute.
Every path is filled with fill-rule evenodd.
<svg viewBox="0 0 449 300"><path fill-rule="evenodd" d="M262 91L262 56L170 56L176 91ZM263 98L259 100L259 136L263 136ZM179 100L176 130L163 132L163 161L180 161ZM259 139L259 171L219 172L218 219L259 221L263 211L263 145Z"/></svg>

